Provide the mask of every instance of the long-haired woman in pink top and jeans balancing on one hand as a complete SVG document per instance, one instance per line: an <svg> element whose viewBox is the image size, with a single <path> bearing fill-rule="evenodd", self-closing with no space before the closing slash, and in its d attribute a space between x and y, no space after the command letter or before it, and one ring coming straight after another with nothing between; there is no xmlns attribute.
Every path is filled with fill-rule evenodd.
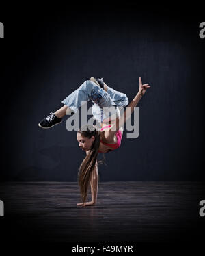
<svg viewBox="0 0 205 256"><path fill-rule="evenodd" d="M102 79L91 77L90 80L85 81L77 90L62 101L64 107L61 107L54 113L51 112L49 116L38 124L44 129L51 128L61 123L65 114L77 112L79 107L81 107L81 101L89 101L91 99L94 103L92 105L92 114L94 119L100 122L100 131L96 127L88 127L87 125L77 131L79 147L86 152L86 157L83 159L78 173L83 203L77 203L77 205L96 204L98 194L98 153L108 153L118 149L122 140L122 125L130 118L134 107L136 107L141 97L145 94L147 88L150 88L150 86L142 84L141 77L139 77L139 91L128 105L126 94L113 90ZM126 107L126 105L131 107L131 111L128 111L128 108L126 108L125 112L120 116L118 107ZM86 202L89 183L92 201Z"/></svg>

